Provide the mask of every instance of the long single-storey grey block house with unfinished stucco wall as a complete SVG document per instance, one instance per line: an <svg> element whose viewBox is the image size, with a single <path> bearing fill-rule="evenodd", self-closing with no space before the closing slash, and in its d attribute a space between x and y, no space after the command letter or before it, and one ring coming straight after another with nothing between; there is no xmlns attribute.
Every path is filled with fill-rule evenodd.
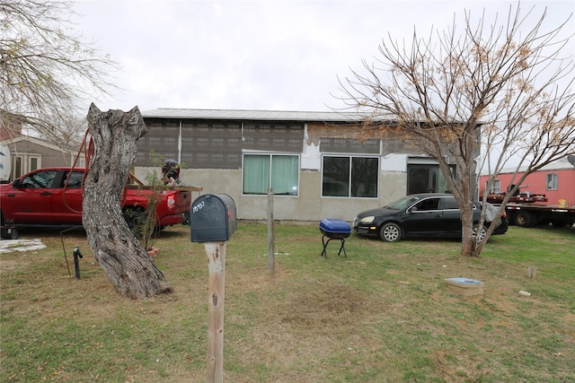
<svg viewBox="0 0 575 383"><path fill-rule="evenodd" d="M234 198L237 217L350 221L411 193L446 191L436 161L392 136L359 140L354 113L154 109L137 142L137 178L162 160L181 163L184 185ZM456 171L455 165L453 166Z"/></svg>

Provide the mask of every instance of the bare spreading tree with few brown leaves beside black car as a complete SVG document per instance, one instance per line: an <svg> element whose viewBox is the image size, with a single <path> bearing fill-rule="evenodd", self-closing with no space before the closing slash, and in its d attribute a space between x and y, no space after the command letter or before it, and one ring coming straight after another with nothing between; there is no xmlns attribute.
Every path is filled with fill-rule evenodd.
<svg viewBox="0 0 575 383"><path fill-rule="evenodd" d="M575 151L574 65L572 57L561 57L572 38L562 37L569 18L545 31L546 9L529 24L532 13L534 8L523 14L517 4L507 18L489 24L485 13L473 19L465 12L464 30L454 17L452 27L432 30L428 39L414 32L411 47L390 36L376 65L364 60L362 73L340 81L342 100L367 114L362 135L400 138L438 161L462 211L464 256L480 255L504 210L502 205L478 240L486 204L482 222L473 227L471 201L483 165L492 180L509 160L528 164L519 185ZM394 124L384 126L390 117ZM495 148L500 155L493 158Z"/></svg>

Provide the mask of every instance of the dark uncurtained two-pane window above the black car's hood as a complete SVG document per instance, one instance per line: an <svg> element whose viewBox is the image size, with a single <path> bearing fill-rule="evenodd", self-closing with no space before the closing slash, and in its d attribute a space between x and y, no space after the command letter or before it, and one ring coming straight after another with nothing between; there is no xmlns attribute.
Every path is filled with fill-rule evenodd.
<svg viewBox="0 0 575 383"><path fill-rule="evenodd" d="M379 159L323 156L322 196L376 198Z"/></svg>

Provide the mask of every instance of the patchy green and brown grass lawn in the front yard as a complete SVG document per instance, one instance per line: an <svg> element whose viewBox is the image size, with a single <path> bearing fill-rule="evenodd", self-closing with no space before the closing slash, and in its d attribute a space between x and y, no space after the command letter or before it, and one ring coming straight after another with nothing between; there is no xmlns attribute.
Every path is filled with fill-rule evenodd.
<svg viewBox="0 0 575 383"><path fill-rule="evenodd" d="M352 234L326 259L317 225L275 233L274 274L265 224L227 242L226 381L575 382L575 230L510 227L480 258ZM20 234L48 248L0 254L0 381L206 381L208 262L189 228L156 239L175 292L147 300L119 298L84 231ZM459 276L484 293L449 290Z"/></svg>

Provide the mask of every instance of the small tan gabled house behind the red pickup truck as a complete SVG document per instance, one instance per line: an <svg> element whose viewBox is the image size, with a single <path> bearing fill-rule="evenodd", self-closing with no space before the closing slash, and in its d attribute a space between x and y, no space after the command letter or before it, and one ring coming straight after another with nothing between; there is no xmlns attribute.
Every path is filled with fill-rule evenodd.
<svg viewBox="0 0 575 383"><path fill-rule="evenodd" d="M28 135L14 135L12 138L1 141L0 144L10 150L11 180L40 168L72 166L74 163L79 168L85 165L83 156L75 162L76 152L62 149Z"/></svg>

